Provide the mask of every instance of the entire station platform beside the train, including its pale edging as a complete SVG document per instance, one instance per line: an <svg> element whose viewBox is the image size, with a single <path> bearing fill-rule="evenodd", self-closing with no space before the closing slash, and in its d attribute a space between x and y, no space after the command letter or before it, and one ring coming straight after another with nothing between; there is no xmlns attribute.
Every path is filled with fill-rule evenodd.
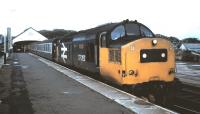
<svg viewBox="0 0 200 114"><path fill-rule="evenodd" d="M176 113L32 54L12 54L0 75L1 114Z"/></svg>

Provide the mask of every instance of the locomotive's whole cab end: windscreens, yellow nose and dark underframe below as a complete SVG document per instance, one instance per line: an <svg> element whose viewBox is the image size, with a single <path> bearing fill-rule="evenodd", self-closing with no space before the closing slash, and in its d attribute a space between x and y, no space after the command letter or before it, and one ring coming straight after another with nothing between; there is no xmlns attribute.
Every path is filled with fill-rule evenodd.
<svg viewBox="0 0 200 114"><path fill-rule="evenodd" d="M103 78L154 103L174 97L175 52L170 41L155 38L137 21L119 23L100 34L99 41Z"/></svg>

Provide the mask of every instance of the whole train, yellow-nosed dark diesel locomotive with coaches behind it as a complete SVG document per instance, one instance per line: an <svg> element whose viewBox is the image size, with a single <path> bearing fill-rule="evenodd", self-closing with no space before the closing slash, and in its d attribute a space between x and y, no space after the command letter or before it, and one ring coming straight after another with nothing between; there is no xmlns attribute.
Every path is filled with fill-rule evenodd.
<svg viewBox="0 0 200 114"><path fill-rule="evenodd" d="M32 43L29 49L60 64L98 73L150 102L165 103L174 97L173 45L137 21L108 23Z"/></svg>

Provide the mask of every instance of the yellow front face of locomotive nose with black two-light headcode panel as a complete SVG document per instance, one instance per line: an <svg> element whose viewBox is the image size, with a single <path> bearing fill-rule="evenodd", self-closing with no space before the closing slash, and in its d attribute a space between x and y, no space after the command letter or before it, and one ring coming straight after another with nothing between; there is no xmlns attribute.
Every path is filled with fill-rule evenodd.
<svg viewBox="0 0 200 114"><path fill-rule="evenodd" d="M123 85L174 80L175 54L169 41L142 38L122 46L121 52Z"/></svg>

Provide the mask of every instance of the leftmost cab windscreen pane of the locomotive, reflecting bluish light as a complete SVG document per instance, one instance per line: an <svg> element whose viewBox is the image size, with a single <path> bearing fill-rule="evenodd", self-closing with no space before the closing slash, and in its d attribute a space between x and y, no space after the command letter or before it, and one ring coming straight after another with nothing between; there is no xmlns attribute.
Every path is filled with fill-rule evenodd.
<svg viewBox="0 0 200 114"><path fill-rule="evenodd" d="M125 29L123 25L120 25L116 27L112 32L111 32L111 39L112 40L117 40L118 38L121 38L125 35Z"/></svg>

